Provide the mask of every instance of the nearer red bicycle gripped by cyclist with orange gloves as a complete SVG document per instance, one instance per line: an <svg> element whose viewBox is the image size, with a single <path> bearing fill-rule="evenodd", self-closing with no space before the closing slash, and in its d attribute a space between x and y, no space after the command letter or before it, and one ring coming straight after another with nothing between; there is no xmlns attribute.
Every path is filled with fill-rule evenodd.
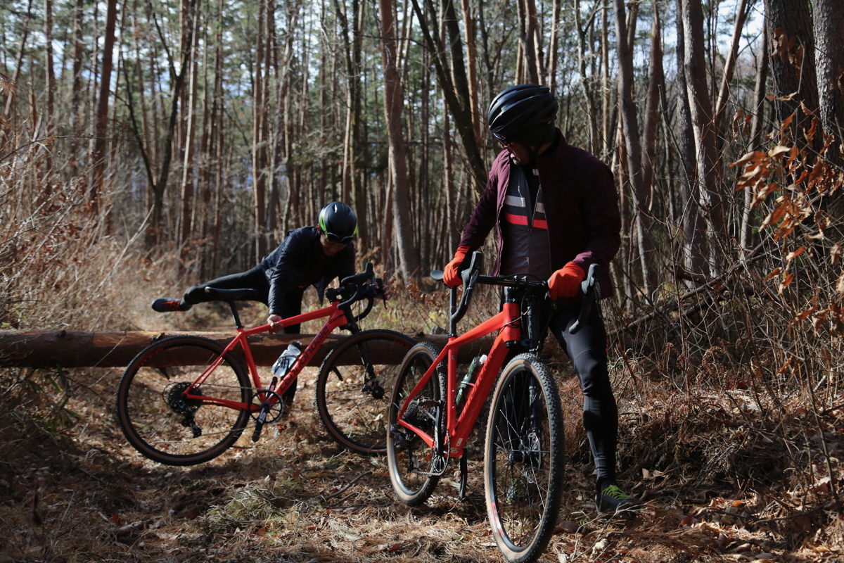
<svg viewBox="0 0 844 563"><path fill-rule="evenodd" d="M430 343L416 344L399 368L389 409L387 465L398 498L417 506L431 495L449 460L457 458L462 499L468 473L466 441L495 386L484 445L487 513L506 560L523 563L536 560L549 542L564 475L560 396L548 366L538 358L551 303L546 282L482 276L480 264L481 254L475 252L463 272L459 306L457 290L452 289L448 344L442 350ZM573 332L582 327L592 302L597 304L596 274L597 269L590 268L582 284L587 296ZM441 279L442 273L431 275ZM458 336L457 322L476 283L504 286L504 305L497 315ZM460 385L468 387L463 402L457 352L495 331L489 359L473 380L464 378Z"/></svg>

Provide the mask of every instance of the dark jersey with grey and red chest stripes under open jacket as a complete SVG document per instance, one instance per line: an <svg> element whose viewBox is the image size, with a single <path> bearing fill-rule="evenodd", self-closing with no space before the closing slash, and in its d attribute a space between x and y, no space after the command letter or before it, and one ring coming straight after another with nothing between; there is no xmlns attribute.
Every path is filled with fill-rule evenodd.
<svg viewBox="0 0 844 563"><path fill-rule="evenodd" d="M536 203L531 201L531 191L525 171L536 175L538 171L522 166L510 166L510 181L504 206L501 208L501 275L532 275L549 279L551 252L548 241L548 222L542 203L542 187L536 190Z"/></svg>

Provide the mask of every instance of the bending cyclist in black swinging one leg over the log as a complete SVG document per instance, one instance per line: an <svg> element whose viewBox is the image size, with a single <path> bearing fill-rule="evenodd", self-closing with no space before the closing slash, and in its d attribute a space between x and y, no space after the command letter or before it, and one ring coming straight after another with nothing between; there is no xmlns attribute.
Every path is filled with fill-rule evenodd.
<svg viewBox="0 0 844 563"><path fill-rule="evenodd" d="M162 297L153 302L159 312L187 311L197 303L214 300L205 293L206 287L223 290L251 289L255 300L269 307L267 322L270 332L283 330L299 334L300 325L282 327L286 317L299 315L302 295L309 285L317 288L320 300L334 278L344 279L354 274L354 243L358 219L345 203L328 203L319 214L318 227L290 230L284 241L261 263L242 273L232 273L193 285L184 297Z"/></svg>

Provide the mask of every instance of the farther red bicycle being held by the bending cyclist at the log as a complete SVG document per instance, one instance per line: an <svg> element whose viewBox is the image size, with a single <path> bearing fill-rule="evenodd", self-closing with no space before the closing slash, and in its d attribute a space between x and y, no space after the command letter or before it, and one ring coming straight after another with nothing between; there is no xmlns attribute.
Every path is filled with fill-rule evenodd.
<svg viewBox="0 0 844 563"><path fill-rule="evenodd" d="M164 338L132 360L117 387L116 418L138 452L167 465L207 462L235 444L250 417L255 420L252 441L257 441L263 426L282 416L284 392L295 389L302 369L335 328L352 334L322 362L317 412L328 433L345 447L362 453L385 451L388 398L398 363L414 340L389 330L360 331L358 322L369 314L376 295L383 295L371 264L364 273L343 279L338 289L327 290L328 306L281 322L288 326L327 317L289 370L273 375L267 387L249 337L268 332L269 325L244 328L235 306L235 300L253 299L252 290L205 291L228 302L237 333L225 347L199 336ZM352 305L363 300L365 309L355 315Z"/></svg>

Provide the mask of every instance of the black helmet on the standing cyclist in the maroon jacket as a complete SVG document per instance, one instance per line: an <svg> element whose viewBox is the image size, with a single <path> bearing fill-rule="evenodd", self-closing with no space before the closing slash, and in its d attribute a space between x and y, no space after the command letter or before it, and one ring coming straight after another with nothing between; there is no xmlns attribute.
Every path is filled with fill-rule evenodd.
<svg viewBox="0 0 844 563"><path fill-rule="evenodd" d="M518 84L495 96L487 123L500 141L541 145L554 138L558 106L548 86Z"/></svg>

